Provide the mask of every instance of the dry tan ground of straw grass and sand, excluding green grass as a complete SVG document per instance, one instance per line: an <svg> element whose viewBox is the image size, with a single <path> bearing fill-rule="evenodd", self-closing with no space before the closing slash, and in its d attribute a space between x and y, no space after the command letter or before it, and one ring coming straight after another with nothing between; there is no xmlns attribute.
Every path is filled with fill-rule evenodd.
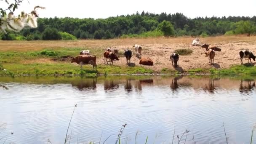
<svg viewBox="0 0 256 144"><path fill-rule="evenodd" d="M173 51L180 48L191 49L193 53L188 56L180 56L176 70L182 72L193 68L229 68L233 64L240 64L239 51L249 49L256 54L256 36L229 36L229 37L207 37L200 38L201 43L216 45L221 48L221 52L216 52L214 65L208 63L208 58L205 57L205 48L200 46L191 46L193 37L178 37L178 38L147 38L147 39L115 39L115 40L76 40L76 41L0 41L1 51L40 51L45 48L81 48L83 49L98 49L97 64L104 64L103 50L107 47L115 47L121 53L120 60L114 61L114 65L125 66L126 59L123 56L123 50L126 48L133 51L131 65L141 66L155 71L161 71L163 68L175 69L171 66L170 55ZM139 59L135 57L134 44L142 46L142 57L149 57L154 61L153 66L144 66L139 64ZM102 49L102 51L101 51ZM102 54L101 54L102 52ZM79 52L77 52L79 53ZM101 57L102 56L102 57ZM50 58L49 58L50 59ZM53 61L53 60L52 60ZM48 63L49 60L42 60ZM54 63L55 61L53 61ZM64 61L59 61L64 62ZM244 59L244 63L247 59Z"/></svg>

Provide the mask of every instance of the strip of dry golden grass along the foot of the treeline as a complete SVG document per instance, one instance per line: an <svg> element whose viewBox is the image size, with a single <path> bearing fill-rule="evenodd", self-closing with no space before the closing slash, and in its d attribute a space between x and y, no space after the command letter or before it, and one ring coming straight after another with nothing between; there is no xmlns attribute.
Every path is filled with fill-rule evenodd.
<svg viewBox="0 0 256 144"><path fill-rule="evenodd" d="M70 40L70 41L1 41L0 51L40 51L44 48L107 48L119 45L145 44L191 44L193 37L157 37L157 38L125 38L112 40ZM231 41L255 41L256 36L218 36L200 38L201 43L219 43Z"/></svg>

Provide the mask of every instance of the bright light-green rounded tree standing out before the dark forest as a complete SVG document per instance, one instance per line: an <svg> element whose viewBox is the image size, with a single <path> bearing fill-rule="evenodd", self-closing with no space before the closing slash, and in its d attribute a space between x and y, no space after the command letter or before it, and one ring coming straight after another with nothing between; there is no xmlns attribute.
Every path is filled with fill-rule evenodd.
<svg viewBox="0 0 256 144"><path fill-rule="evenodd" d="M163 21L158 24L157 29L163 32L165 37L174 36L174 28L170 21Z"/></svg>

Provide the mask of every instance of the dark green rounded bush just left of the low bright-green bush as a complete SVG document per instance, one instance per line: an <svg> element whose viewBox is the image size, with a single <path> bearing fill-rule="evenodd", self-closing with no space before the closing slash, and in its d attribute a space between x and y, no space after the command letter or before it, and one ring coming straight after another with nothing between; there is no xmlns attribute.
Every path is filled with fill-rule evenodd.
<svg viewBox="0 0 256 144"><path fill-rule="evenodd" d="M61 40L61 34L55 28L46 28L42 34L42 40Z"/></svg>

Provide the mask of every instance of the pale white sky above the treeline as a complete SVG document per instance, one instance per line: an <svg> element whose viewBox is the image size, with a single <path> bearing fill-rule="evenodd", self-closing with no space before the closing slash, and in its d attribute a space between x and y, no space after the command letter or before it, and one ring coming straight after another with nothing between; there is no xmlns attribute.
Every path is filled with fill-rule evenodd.
<svg viewBox="0 0 256 144"><path fill-rule="evenodd" d="M40 11L40 17L98 19L143 10L150 13L180 12L190 18L256 15L256 0L29 0L29 3L24 0L19 11L29 12L35 5L44 6L46 9Z"/></svg>

